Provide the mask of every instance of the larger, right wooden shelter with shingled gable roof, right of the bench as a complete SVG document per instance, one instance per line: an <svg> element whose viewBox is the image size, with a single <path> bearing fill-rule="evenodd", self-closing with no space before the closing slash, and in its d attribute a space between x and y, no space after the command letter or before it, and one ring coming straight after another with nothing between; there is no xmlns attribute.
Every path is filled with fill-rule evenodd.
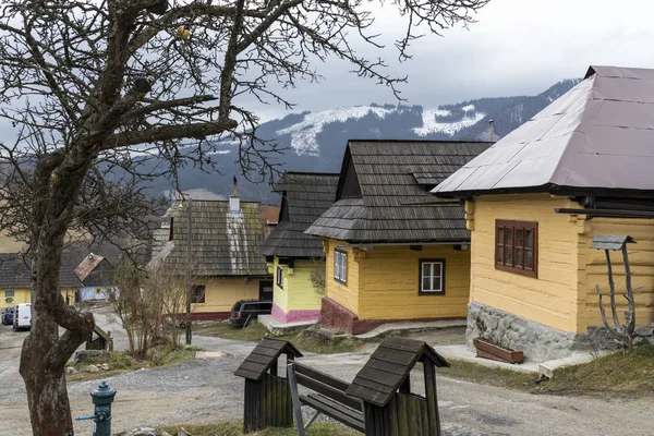
<svg viewBox="0 0 654 436"><path fill-rule="evenodd" d="M424 397L411 391L417 362ZM363 403L366 436L440 436L435 368L443 366L449 363L424 341L385 339L346 391Z"/></svg>

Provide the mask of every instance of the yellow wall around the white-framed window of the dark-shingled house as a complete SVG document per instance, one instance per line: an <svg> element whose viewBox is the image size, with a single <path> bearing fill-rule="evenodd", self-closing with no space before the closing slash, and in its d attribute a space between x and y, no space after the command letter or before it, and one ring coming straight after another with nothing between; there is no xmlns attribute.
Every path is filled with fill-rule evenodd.
<svg viewBox="0 0 654 436"><path fill-rule="evenodd" d="M445 259L445 294L420 295L420 259ZM465 317L470 295L470 251L451 245L375 246L359 258L359 318Z"/></svg>

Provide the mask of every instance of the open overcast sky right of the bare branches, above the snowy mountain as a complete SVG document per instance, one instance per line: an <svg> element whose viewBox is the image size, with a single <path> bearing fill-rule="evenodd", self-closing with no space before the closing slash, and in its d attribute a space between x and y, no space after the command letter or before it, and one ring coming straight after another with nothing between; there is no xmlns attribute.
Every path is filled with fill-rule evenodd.
<svg viewBox="0 0 654 436"><path fill-rule="evenodd" d="M376 14L385 41L397 38L402 29L392 8ZM411 105L435 108L480 97L534 95L562 78L583 76L590 64L654 68L653 16L652 0L491 0L469 29L426 36L404 63L396 61L393 51L386 58L390 72L409 76L401 89ZM363 47L361 52L373 59L384 55ZM293 112L397 101L387 88L348 73L344 62L316 66L326 78L287 94L298 104ZM274 106L256 109L264 120L284 114Z"/></svg>

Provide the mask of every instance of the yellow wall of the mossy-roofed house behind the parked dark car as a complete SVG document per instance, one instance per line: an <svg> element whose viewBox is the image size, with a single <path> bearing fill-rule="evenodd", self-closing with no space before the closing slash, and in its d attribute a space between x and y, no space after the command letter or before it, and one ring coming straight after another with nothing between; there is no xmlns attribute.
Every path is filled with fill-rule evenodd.
<svg viewBox="0 0 654 436"><path fill-rule="evenodd" d="M204 284L205 302L194 304L194 312L230 312L239 300L258 300L259 280L244 277L195 279L193 284Z"/></svg>

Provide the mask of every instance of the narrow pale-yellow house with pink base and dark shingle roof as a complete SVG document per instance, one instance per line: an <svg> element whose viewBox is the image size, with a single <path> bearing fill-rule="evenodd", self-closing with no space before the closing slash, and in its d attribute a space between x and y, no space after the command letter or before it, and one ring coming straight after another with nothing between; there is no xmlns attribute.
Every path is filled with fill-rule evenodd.
<svg viewBox="0 0 654 436"><path fill-rule="evenodd" d="M275 185L281 193L279 223L261 245L274 275L272 316L280 323L320 317L320 296L311 276L325 270L319 239L304 230L334 203L339 174L286 172Z"/></svg>

